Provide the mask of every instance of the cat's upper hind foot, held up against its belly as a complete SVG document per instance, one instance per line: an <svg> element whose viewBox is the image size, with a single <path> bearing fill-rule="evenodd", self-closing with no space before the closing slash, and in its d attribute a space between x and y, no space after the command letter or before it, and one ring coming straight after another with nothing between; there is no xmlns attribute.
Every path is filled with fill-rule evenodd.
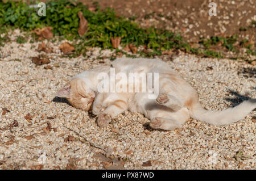
<svg viewBox="0 0 256 181"><path fill-rule="evenodd" d="M156 102L168 108L171 108L174 111L178 111L183 107L179 99L177 99L173 95L166 94L166 93L160 93L156 98Z"/></svg>

